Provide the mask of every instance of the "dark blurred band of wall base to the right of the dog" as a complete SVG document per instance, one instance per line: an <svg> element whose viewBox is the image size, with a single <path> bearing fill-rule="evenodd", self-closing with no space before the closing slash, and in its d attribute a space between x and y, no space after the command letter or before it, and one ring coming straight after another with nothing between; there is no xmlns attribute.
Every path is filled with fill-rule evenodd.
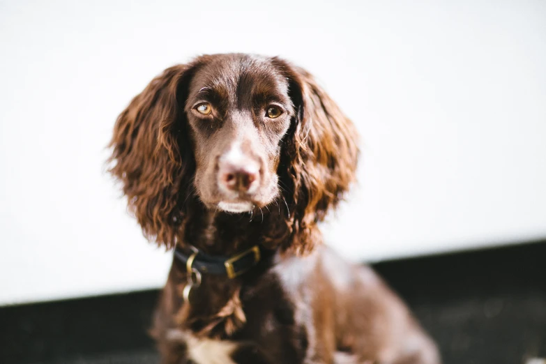
<svg viewBox="0 0 546 364"><path fill-rule="evenodd" d="M374 268L437 340L446 364L546 357L546 242Z"/></svg>

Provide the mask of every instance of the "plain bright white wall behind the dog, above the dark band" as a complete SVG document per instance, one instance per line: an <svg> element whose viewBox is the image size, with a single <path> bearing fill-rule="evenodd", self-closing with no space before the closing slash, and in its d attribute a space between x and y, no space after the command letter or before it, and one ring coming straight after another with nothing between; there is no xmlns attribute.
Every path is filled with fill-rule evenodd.
<svg viewBox="0 0 546 364"><path fill-rule="evenodd" d="M103 173L117 114L202 53L284 56L363 135L353 259L546 238L544 1L1 1L0 303L158 287Z"/></svg>

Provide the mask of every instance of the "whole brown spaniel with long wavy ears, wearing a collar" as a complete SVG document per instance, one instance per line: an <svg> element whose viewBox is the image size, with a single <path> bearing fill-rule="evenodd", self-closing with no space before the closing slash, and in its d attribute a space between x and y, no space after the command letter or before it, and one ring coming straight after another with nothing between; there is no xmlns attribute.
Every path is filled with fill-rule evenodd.
<svg viewBox="0 0 546 364"><path fill-rule="evenodd" d="M439 363L377 275L322 245L358 138L305 70L245 54L168 68L112 148L144 234L176 248L153 329L164 363Z"/></svg>

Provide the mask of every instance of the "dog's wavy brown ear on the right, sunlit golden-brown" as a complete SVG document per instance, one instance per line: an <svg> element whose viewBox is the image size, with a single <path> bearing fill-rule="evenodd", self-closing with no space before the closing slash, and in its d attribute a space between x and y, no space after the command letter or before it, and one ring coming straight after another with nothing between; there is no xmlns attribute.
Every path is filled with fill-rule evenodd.
<svg viewBox="0 0 546 364"><path fill-rule="evenodd" d="M358 132L310 73L281 59L273 63L289 80L296 109L278 171L291 206L292 238L284 248L305 254L321 241L317 222L338 206L355 180Z"/></svg>

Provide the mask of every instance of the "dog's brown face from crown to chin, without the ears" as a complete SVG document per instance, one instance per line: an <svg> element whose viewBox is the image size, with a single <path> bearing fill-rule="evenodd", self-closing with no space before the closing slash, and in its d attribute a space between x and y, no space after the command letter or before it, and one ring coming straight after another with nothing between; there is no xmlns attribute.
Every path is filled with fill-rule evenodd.
<svg viewBox="0 0 546 364"><path fill-rule="evenodd" d="M195 71L184 111L195 188L206 206L241 213L278 196L280 141L294 105L287 78L270 60L216 57Z"/></svg>

